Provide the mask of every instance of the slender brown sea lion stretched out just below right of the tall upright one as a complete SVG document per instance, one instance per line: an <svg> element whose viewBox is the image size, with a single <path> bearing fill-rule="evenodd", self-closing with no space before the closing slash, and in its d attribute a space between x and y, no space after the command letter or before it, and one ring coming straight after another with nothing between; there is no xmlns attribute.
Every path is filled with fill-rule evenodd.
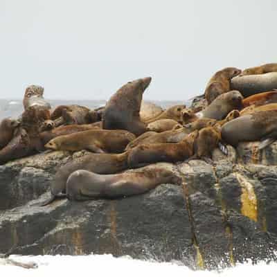
<svg viewBox="0 0 277 277"><path fill-rule="evenodd" d="M149 132L148 132L149 133ZM170 131L141 135L136 140L131 141L126 147L126 150L136 147L140 144L153 144L153 143L179 143L190 133L190 129L186 127L181 127L179 129L172 129Z"/></svg>

